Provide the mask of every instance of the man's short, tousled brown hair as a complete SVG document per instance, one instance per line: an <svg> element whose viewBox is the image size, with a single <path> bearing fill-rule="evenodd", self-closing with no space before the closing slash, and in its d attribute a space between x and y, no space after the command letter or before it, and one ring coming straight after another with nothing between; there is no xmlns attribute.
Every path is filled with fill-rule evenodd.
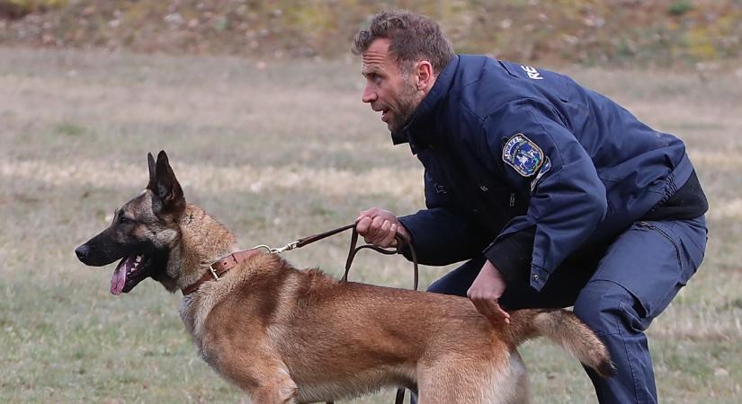
<svg viewBox="0 0 742 404"><path fill-rule="evenodd" d="M353 40L353 54L361 55L374 40L389 39L389 54L397 57L403 70L419 60L427 60L435 75L451 61L453 49L437 22L407 10L383 11L373 16L371 26Z"/></svg>

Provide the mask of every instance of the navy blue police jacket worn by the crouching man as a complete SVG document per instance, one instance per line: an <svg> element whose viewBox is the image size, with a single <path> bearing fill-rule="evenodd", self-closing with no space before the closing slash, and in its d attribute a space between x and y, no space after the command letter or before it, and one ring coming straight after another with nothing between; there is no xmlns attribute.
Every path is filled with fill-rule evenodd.
<svg viewBox="0 0 742 404"><path fill-rule="evenodd" d="M607 245L693 172L681 140L603 95L482 56L454 57L392 138L425 166L427 209L399 218L420 262L483 252L497 268L530 268L537 290L571 254Z"/></svg>

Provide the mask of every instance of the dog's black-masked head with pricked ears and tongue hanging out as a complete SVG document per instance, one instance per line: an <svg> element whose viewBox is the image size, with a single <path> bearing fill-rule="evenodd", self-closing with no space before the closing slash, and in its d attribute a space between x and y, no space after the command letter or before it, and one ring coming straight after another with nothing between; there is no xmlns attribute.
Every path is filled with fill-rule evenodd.
<svg viewBox="0 0 742 404"><path fill-rule="evenodd" d="M128 293L147 277L174 289L168 275L170 251L180 240L179 222L185 198L165 151L147 155L149 183L135 198L116 210L112 224L75 253L85 265L101 267L121 259L111 277L111 293Z"/></svg>

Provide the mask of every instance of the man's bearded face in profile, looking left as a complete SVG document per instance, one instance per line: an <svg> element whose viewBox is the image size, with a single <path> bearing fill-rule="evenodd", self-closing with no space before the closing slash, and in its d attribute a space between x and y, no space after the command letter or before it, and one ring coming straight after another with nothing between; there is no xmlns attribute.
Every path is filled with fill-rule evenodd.
<svg viewBox="0 0 742 404"><path fill-rule="evenodd" d="M402 72L395 57L389 55L389 40L379 39L362 54L361 74L366 78L362 101L371 110L381 111L381 120L389 131L397 132L423 99L415 84L415 75Z"/></svg>

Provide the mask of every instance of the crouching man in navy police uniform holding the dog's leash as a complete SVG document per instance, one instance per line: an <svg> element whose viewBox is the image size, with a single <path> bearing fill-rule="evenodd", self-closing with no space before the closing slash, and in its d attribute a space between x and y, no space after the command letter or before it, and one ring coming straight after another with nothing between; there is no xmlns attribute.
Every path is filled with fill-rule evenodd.
<svg viewBox="0 0 742 404"><path fill-rule="evenodd" d="M367 242L400 234L421 263L466 261L429 291L505 309L574 305L618 374L600 402L656 402L644 331L701 264L708 205L683 142L565 75L454 55L409 12L360 31L362 101L425 166L425 205L358 218ZM408 254L406 254L408 255Z"/></svg>

